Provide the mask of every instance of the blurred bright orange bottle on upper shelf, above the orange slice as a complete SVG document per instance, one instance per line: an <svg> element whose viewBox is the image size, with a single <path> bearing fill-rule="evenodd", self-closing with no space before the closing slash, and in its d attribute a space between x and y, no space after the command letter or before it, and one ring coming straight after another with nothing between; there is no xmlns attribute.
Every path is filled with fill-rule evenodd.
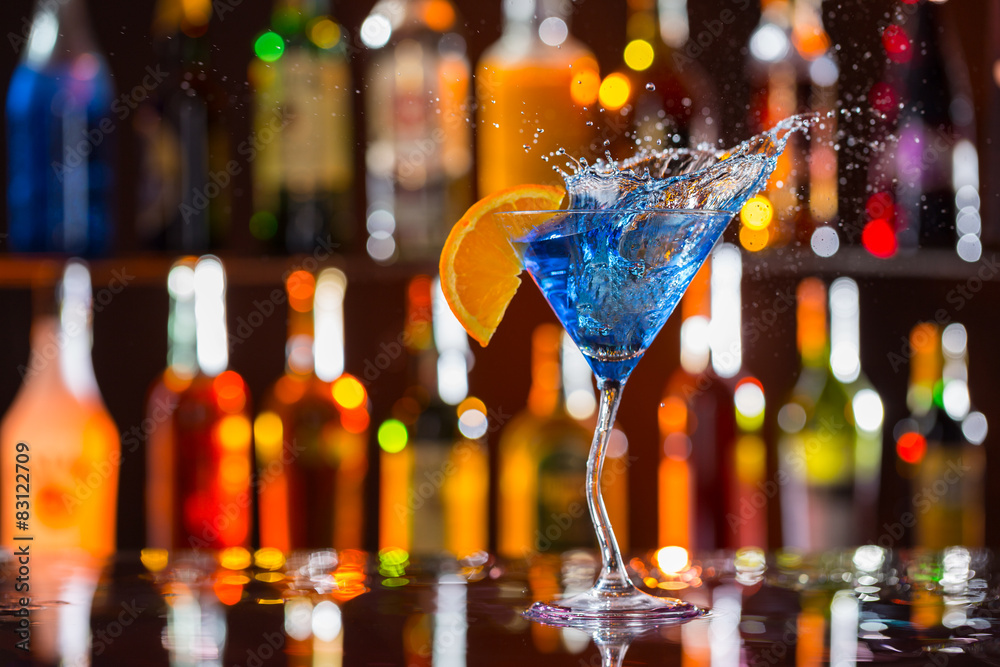
<svg viewBox="0 0 1000 667"><path fill-rule="evenodd" d="M476 66L479 196L521 183L562 184L565 150L592 155L597 59L569 34L570 3L504 0L500 39Z"/></svg>

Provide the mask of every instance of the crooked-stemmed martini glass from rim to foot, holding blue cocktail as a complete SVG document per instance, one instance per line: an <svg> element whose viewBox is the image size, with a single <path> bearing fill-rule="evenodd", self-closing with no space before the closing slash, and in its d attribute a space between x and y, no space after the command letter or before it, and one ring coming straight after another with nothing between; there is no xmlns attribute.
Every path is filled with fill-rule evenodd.
<svg viewBox="0 0 1000 667"><path fill-rule="evenodd" d="M601 471L622 389L733 216L713 210L498 213L515 250L597 377L601 403L587 461L587 506L602 567L593 588L536 602L550 625L660 625L704 610L649 595L629 578L601 497ZM529 230L521 233L517 230Z"/></svg>

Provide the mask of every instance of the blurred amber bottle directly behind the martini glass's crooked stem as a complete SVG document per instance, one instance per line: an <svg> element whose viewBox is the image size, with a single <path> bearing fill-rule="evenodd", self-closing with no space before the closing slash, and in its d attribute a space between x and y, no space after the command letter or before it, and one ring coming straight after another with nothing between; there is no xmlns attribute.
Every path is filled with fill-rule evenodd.
<svg viewBox="0 0 1000 667"><path fill-rule="evenodd" d="M593 374L555 324L532 336L528 406L504 427L499 443L498 549L520 558L596 546L587 511L587 456L594 437ZM616 429L601 479L616 537L628 540L628 468ZM619 526L621 529L619 530Z"/></svg>

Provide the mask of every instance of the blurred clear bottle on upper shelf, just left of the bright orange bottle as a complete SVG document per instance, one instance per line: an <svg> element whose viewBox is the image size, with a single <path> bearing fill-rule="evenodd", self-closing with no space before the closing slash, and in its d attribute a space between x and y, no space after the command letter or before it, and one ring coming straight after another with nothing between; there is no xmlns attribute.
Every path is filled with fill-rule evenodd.
<svg viewBox="0 0 1000 667"><path fill-rule="evenodd" d="M471 199L470 66L449 0L380 0L361 25L368 254L434 259Z"/></svg>

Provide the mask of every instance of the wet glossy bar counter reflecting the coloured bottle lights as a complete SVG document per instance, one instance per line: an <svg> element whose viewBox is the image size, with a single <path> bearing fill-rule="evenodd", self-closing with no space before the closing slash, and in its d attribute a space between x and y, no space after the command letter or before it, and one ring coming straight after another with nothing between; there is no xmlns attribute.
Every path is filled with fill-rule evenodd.
<svg viewBox="0 0 1000 667"><path fill-rule="evenodd" d="M644 634L522 618L536 599L590 585L597 563L581 551L461 561L400 550L3 552L0 665L1000 664L989 551L748 549L688 561L661 550L630 565L646 590L711 611Z"/></svg>

